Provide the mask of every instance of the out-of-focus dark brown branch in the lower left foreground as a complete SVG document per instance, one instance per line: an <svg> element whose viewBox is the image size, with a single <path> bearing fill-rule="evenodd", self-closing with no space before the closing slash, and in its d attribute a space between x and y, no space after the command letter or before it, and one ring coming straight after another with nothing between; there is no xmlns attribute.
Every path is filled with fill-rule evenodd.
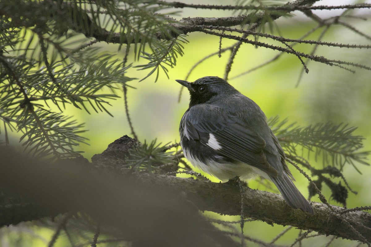
<svg viewBox="0 0 371 247"><path fill-rule="evenodd" d="M1 226L83 212L100 224L102 233L133 246L238 246L176 188L118 176L81 160L47 164L7 150L0 150L0 157L0 203L7 201L0 205ZM22 201L12 204L17 200Z"/></svg>

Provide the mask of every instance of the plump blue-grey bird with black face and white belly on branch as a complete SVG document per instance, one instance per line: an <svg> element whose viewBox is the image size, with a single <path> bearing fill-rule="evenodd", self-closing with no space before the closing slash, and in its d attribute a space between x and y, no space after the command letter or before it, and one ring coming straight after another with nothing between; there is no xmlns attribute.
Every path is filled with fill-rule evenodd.
<svg viewBox="0 0 371 247"><path fill-rule="evenodd" d="M179 132L184 156L191 164L221 181L258 174L277 186L289 206L313 214L292 183L285 153L254 101L219 77L176 81L190 92Z"/></svg>

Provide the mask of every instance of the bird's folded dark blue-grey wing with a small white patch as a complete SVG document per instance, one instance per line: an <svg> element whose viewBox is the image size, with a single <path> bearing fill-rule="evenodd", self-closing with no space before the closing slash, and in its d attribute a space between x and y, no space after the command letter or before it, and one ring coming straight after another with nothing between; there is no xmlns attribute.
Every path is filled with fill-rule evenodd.
<svg viewBox="0 0 371 247"><path fill-rule="evenodd" d="M219 154L278 176L264 153L265 140L238 116L213 105L196 105L183 116L184 135L199 140Z"/></svg>

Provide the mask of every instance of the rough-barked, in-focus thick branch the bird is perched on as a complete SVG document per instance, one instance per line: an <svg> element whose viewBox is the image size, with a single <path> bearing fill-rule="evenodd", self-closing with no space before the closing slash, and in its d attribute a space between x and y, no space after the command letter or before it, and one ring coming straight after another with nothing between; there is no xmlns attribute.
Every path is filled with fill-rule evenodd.
<svg viewBox="0 0 371 247"><path fill-rule="evenodd" d="M198 181L178 177L149 177L160 186L179 188L187 195L200 210L210 210L219 214L239 215L241 213L240 191L237 186ZM247 188L244 194L244 214L246 217L256 218L269 224L283 226L290 225L303 230L314 230L324 235L358 240L349 225L356 228L362 236L371 241L371 214L363 211L354 211L354 214L341 214L341 207L333 206L332 211L323 203L312 202L314 215L303 213L290 208L282 196L266 191ZM349 212L350 213L350 212Z"/></svg>

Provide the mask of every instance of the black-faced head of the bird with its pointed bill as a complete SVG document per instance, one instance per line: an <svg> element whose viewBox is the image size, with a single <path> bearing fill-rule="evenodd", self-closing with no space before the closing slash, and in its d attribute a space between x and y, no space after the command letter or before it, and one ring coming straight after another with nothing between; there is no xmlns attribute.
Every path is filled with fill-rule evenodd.
<svg viewBox="0 0 371 247"><path fill-rule="evenodd" d="M196 104L211 103L221 97L229 98L234 93L238 93L227 81L216 76L202 77L194 82L176 81L189 90L190 107Z"/></svg>

